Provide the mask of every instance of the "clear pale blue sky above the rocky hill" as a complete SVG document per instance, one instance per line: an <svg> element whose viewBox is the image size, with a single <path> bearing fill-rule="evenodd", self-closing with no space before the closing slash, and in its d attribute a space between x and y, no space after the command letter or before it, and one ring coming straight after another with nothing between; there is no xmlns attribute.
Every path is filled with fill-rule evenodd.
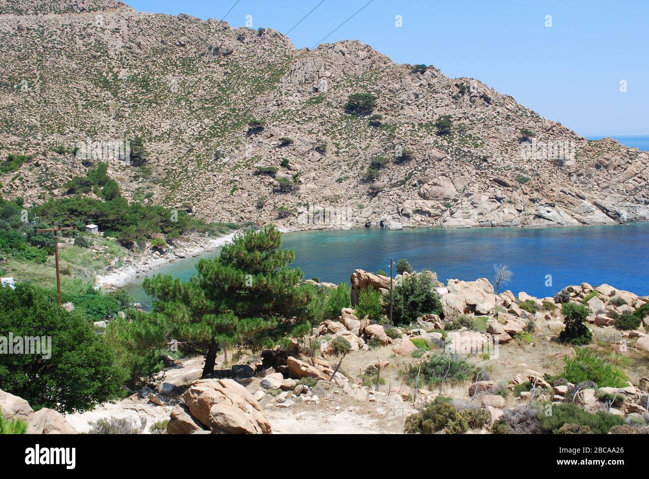
<svg viewBox="0 0 649 479"><path fill-rule="evenodd" d="M286 33L321 0L126 0L137 10ZM324 0L289 38L313 47L369 0ZM395 16L402 27L395 26ZM546 16L552 27L546 27ZM649 1L374 0L325 42L473 77L584 136L649 135ZM626 92L620 92L620 81Z"/></svg>

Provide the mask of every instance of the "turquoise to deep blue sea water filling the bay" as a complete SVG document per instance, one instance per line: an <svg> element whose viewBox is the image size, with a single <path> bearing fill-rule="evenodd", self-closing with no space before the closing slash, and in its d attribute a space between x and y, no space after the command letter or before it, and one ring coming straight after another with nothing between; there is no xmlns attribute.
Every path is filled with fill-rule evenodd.
<svg viewBox="0 0 649 479"><path fill-rule="evenodd" d="M346 282L356 268L389 271L390 258L406 258L415 269L437 271L439 279L493 277L493 264L506 263L515 293L554 295L570 284L611 284L649 295L649 223L582 228L361 229L288 233L282 247L295 251L293 265L305 278ZM214 257L217 252L204 257ZM186 280L199 258L170 264L160 273ZM551 284L547 275L551 276ZM150 299L129 285L136 301ZM547 284L547 286L546 286Z"/></svg>

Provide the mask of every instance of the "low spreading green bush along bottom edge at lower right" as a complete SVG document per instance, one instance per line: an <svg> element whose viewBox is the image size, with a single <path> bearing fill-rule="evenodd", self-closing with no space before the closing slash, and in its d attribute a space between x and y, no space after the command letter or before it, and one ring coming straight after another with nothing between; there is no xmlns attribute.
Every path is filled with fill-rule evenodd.
<svg viewBox="0 0 649 479"><path fill-rule="evenodd" d="M604 411L592 414L574 404L554 404L550 415L539 413L539 421L544 432L553 434L559 434L564 424L576 424L582 430L587 427L593 434L607 434L613 426L624 424L624 419L618 415Z"/></svg>

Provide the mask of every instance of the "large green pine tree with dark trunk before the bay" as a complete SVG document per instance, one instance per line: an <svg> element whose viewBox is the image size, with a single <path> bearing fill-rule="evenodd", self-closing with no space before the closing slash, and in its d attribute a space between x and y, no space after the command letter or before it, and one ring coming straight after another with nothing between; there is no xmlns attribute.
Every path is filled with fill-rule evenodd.
<svg viewBox="0 0 649 479"><path fill-rule="evenodd" d="M295 255L280 249L281 242L273 225L247 231L219 257L199 261L189 282L171 276L144 281L156 298L155 320L168 325L171 337L204 352L203 377L214 371L222 345L259 350L310 330L313 290L300 286L302 272L289 268Z"/></svg>

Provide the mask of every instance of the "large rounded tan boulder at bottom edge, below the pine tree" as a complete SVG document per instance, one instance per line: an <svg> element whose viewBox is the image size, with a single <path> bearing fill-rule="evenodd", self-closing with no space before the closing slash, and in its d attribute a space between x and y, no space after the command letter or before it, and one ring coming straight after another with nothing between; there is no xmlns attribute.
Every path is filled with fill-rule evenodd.
<svg viewBox="0 0 649 479"><path fill-rule="evenodd" d="M168 434L271 434L259 403L232 379L194 381L171 412Z"/></svg>

